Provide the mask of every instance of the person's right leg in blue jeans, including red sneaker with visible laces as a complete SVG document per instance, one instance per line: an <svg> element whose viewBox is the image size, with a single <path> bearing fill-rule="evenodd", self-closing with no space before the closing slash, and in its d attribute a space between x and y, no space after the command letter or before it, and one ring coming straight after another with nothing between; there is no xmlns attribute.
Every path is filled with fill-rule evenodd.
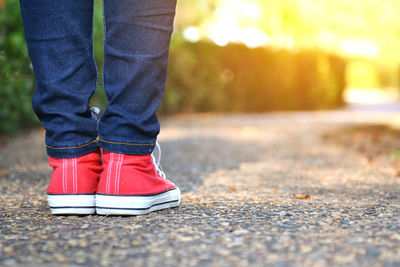
<svg viewBox="0 0 400 267"><path fill-rule="evenodd" d="M156 111L167 76L176 0L104 0L104 87L109 105L99 123L103 171L98 214L139 215L177 207L180 190L153 151Z"/></svg>

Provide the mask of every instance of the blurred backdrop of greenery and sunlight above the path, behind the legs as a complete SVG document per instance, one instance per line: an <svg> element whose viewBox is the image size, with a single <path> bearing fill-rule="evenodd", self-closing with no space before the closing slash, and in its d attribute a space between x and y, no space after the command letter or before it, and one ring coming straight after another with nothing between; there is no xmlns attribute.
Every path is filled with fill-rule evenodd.
<svg viewBox="0 0 400 267"><path fill-rule="evenodd" d="M178 0L160 115L396 102L398 0ZM95 58L102 70L101 0ZM107 106L98 88L92 104ZM0 133L37 125L19 1L0 0Z"/></svg>

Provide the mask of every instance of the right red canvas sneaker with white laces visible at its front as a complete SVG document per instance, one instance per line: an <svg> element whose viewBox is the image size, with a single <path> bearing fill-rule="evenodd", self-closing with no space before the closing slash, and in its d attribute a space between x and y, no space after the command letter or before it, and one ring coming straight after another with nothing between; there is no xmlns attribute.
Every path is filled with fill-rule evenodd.
<svg viewBox="0 0 400 267"><path fill-rule="evenodd" d="M157 162L152 154L126 155L103 150L97 214L140 215L179 206L180 190L165 177L160 157L161 150Z"/></svg>

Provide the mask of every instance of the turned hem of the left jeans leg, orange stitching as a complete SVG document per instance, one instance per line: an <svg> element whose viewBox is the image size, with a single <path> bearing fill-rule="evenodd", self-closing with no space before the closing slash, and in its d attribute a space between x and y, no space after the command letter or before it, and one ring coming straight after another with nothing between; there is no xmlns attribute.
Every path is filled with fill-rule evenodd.
<svg viewBox="0 0 400 267"><path fill-rule="evenodd" d="M47 155L53 158L75 158L87 155L96 149L98 149L98 145L96 143L96 139L80 146L71 146L71 147L53 147L46 145Z"/></svg>

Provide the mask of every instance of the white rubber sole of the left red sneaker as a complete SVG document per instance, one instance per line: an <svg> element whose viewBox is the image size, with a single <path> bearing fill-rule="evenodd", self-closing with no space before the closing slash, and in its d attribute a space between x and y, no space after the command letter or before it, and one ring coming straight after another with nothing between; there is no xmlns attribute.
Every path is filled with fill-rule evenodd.
<svg viewBox="0 0 400 267"><path fill-rule="evenodd" d="M47 195L52 214L94 214L96 213L95 195Z"/></svg>

